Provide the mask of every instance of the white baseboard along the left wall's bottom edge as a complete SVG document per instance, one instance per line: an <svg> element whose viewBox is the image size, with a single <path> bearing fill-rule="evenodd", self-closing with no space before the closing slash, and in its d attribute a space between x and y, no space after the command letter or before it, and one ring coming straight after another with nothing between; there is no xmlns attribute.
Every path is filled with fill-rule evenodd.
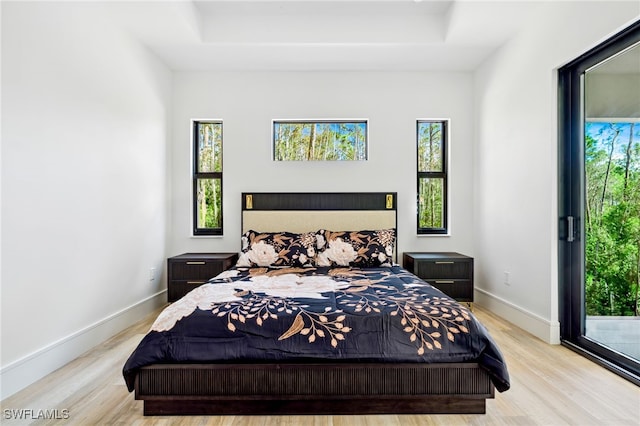
<svg viewBox="0 0 640 426"><path fill-rule="evenodd" d="M52 373L165 303L163 290L2 367L0 400Z"/></svg>

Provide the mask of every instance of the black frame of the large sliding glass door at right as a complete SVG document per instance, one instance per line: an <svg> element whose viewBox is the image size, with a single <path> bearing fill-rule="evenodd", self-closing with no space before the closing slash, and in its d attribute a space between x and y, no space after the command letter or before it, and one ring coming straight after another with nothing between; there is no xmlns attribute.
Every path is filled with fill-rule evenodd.
<svg viewBox="0 0 640 426"><path fill-rule="evenodd" d="M640 21L558 70L558 267L561 343L640 385L640 363L585 337L584 73L640 41Z"/></svg>

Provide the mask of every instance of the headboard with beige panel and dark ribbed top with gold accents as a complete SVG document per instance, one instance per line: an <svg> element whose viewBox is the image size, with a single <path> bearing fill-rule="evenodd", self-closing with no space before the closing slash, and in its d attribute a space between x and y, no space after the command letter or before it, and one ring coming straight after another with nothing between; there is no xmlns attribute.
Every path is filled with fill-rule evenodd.
<svg viewBox="0 0 640 426"><path fill-rule="evenodd" d="M397 228L396 206L395 192L246 192L242 194L242 232Z"/></svg>

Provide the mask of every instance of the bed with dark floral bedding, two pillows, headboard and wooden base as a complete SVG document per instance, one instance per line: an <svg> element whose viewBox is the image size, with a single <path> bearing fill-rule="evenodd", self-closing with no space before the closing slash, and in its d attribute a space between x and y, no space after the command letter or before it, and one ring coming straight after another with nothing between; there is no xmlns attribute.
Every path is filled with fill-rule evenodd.
<svg viewBox="0 0 640 426"><path fill-rule="evenodd" d="M396 193L243 193L238 264L123 367L145 415L485 413L509 388L467 306L395 262Z"/></svg>

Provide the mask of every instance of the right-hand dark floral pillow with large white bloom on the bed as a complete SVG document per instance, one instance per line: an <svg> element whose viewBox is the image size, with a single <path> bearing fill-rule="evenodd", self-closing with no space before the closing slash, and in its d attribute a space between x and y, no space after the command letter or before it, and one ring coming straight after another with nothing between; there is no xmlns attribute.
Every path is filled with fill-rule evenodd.
<svg viewBox="0 0 640 426"><path fill-rule="evenodd" d="M316 232L318 266L392 266L395 229Z"/></svg>

